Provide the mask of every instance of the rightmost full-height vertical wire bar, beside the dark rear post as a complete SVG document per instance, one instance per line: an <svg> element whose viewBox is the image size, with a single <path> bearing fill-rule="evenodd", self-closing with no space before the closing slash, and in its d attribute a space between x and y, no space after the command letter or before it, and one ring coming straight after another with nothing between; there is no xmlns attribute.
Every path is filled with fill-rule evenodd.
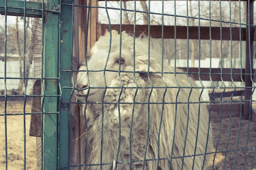
<svg viewBox="0 0 256 170"><path fill-rule="evenodd" d="M246 154L247 154L247 148L248 148L248 138L249 138L249 132L250 132L250 119L251 119L251 111L252 111L252 96L253 96L253 93L255 91L255 84L253 82L253 71L252 71L252 58L251 58L251 48L253 48L253 42L251 42L251 40L253 40L253 32L250 31L251 29L251 24L253 25L253 0L248 0L247 1L247 14L248 14L248 50L249 50L249 62L250 62L250 83L252 83L252 86L253 86L253 91L251 92L250 94L250 107L249 107L249 119L248 119L248 127L247 127L247 138L246 138L246 145L245 145L245 153L244 153L244 168L245 168L245 163L246 163ZM252 9L250 9L250 7ZM250 10L252 10L252 15L250 15ZM253 28L252 28L252 31L253 31ZM251 39L252 38L252 39ZM251 47L251 44L252 44L252 47ZM245 98L246 99L246 98Z"/></svg>

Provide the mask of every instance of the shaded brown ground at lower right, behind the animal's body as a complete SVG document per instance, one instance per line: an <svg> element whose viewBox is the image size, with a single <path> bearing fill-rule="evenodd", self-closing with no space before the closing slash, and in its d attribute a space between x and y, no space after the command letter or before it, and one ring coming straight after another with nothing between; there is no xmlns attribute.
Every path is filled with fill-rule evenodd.
<svg viewBox="0 0 256 170"><path fill-rule="evenodd" d="M215 113L216 115L216 113ZM241 119L239 117L232 117L231 122L230 118L222 118L221 126L220 119L214 116L211 119L212 122L212 130L213 130L213 144L214 147L217 147L217 153L211 154L212 161L210 164L213 164L214 156L214 170L224 170L224 166L226 170L233 170L235 156L235 170L250 170L252 168L256 168L256 160L253 163L253 155L255 154L255 139L256 139L256 122L250 122L250 128L248 133L248 120ZM231 123L231 124L230 124ZM219 127L220 133L219 133ZM240 127L240 135L239 135L239 127ZM230 134L230 135L229 135ZM219 136L219 139L218 139ZM248 141L247 141L248 136ZM228 141L229 139L229 141ZM239 139L239 140L238 140ZM238 144L238 151L236 153L236 147ZM247 144L247 147L246 147ZM228 146L228 147L227 147ZM245 148L249 149L245 152ZM250 149L253 148L253 149ZM227 155L225 155L225 151L228 150ZM215 152L215 150L214 150ZM246 157L245 157L246 155ZM226 157L226 158L225 158ZM245 163L244 163L245 158ZM212 166L211 166L212 169Z"/></svg>

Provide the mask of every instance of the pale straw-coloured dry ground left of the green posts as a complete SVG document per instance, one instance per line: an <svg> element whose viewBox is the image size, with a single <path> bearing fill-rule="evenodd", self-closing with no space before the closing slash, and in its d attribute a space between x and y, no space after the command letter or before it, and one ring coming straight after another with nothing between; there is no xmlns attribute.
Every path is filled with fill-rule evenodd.
<svg viewBox="0 0 256 170"><path fill-rule="evenodd" d="M0 101L0 114L4 113L4 101ZM23 113L24 100L7 102L7 113ZM27 99L26 112L31 112L31 99ZM26 170L37 169L36 138L29 136L30 115L26 115ZM5 169L5 121L0 116L0 170ZM7 116L7 164L8 170L24 170L23 115Z"/></svg>

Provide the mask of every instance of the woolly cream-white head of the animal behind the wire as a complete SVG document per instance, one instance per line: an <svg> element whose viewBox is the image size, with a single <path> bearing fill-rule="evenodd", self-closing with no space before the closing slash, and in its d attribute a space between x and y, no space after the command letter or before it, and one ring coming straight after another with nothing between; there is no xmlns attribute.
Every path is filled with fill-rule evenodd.
<svg viewBox="0 0 256 170"><path fill-rule="evenodd" d="M102 102L102 94L105 91L104 70L106 70L106 86L109 86L111 81L119 76L119 66L120 71L127 71L126 68L128 66L134 66L133 37L125 32L122 33L121 54L119 48L120 35L116 31L112 31L111 40L111 50L109 53L110 33L100 37L99 41L91 49L90 55L87 56L87 66L85 62L80 66L75 86L75 88L79 89L75 91L77 99L85 101L86 96L88 96L87 101ZM147 43L145 43L145 40L142 41L140 39L136 41L135 70L148 71L148 48L147 46L143 47ZM154 55L152 56L151 61L154 60ZM89 71L87 72L86 70ZM154 71L154 69L150 67L150 71ZM88 93L89 85L90 91Z"/></svg>

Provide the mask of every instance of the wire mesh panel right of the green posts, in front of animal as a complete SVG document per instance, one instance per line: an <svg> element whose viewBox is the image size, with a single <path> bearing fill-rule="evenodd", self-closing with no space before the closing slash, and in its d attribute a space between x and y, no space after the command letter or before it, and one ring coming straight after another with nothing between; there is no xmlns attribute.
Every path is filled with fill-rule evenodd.
<svg viewBox="0 0 256 170"><path fill-rule="evenodd" d="M97 22L98 18L94 12L90 11L93 10L90 8L91 6L98 8L101 22L96 26L95 32L91 30L90 24L93 24L94 21ZM186 8L182 8L185 6ZM85 30L89 31L85 44L88 44L90 49L85 52L87 54L85 63L79 72L79 76L83 78L78 78L76 86L78 88L76 90L79 91L77 98L85 104L81 111L85 122L84 133L81 134L87 134L87 136L81 136L83 137L81 140L84 142L81 142L81 145L87 144L81 149L85 150L84 155L81 154L81 164L89 169L133 169L136 166L139 169L158 169L159 167L160 169L192 169L192 167L203 169L206 166L211 169L221 167L224 169L252 169L255 166L256 136L253 128L250 128L252 123L242 118L242 115L246 117L251 113L254 102L252 99L253 80L248 78L249 75L254 75L252 55L249 55L249 51L252 50L249 46L252 45L252 42L247 41L247 45L245 43L250 37L249 34L246 34L248 27L250 29L254 27L252 22L248 22L253 17L252 6L253 4L249 2L233 1L105 1L100 2L99 5L92 1L86 5L79 3L77 8L80 8L81 11L81 8L86 8L93 17L93 19L88 18L87 27L85 26ZM249 7L250 12L242 13L242 8L248 9ZM239 15L234 17L238 12ZM109 30L110 33L105 33L105 30ZM118 34L111 30L116 30ZM122 31L131 33L132 37L121 34ZM151 35L152 39L145 40L143 36L140 37L142 32L146 36ZM90 36L94 36L94 33L98 42L93 47L94 43L91 42L94 40ZM145 40L144 44L136 45L140 44L141 39ZM155 54L155 51L158 53ZM145 57L145 61L142 61L143 57ZM244 67L245 58L248 64L247 68ZM113 61L116 61L116 68L115 66L109 68L109 65L113 65ZM99 62L104 62L105 65ZM141 64L142 62L144 65ZM131 66L130 70L126 70L127 68L122 66L123 64ZM170 67L171 71L168 71L165 66ZM128 76L129 71L133 73L131 77ZM245 74L245 72L247 73ZM140 81L139 77L136 77L137 73L141 77L143 73L145 74L143 78L144 80L148 79L148 86L136 82ZM152 74L158 74L159 84L154 82ZM116 84L108 79L111 77L110 75L116 77L114 79ZM122 75L127 76L130 83L134 81L134 85L129 86L129 82L125 82ZM171 79L169 76L173 77L172 82L168 82ZM191 77L197 81L196 84ZM245 79L248 80L247 83L245 83ZM135 90L132 91L130 88ZM148 89L148 91L140 92L140 88ZM158 90L159 88L163 89L162 93ZM115 89L114 92L111 91L112 89ZM128 89L131 91L130 98ZM169 91L175 91L175 93L167 102ZM249 91L247 95L246 91ZM145 100L139 100L145 94ZM126 95L130 101L123 99L123 95ZM158 96L161 96L162 100L154 101ZM182 101L182 96L184 101ZM196 99L192 101L194 97ZM205 104L209 110L207 116L205 116L207 111L201 110ZM136 127L136 123L139 122L139 118L136 117L137 109L144 105L147 106L139 112L145 121L145 125L143 121L140 122L140 130L144 125L145 133L143 135L145 136L143 136L144 138L137 137L137 143L135 142L137 145L139 142L144 142L140 145L144 150L140 150L133 145L133 137L136 136L133 133L133 128L138 128ZM152 105L160 105L162 110L153 109L152 111L154 108ZM173 108L168 108L168 106L173 106ZM131 108L131 111L128 111L128 108ZM94 111L96 113L92 114ZM143 116L144 111L148 113L146 116ZM126 113L131 115L127 116ZM179 118L183 113L185 115ZM168 114L174 117L163 118ZM124 120L125 115L127 117ZM195 122L193 122L192 117L195 115L198 117L194 117ZM254 113L251 114L250 119L253 115ZM161 121L154 122L156 117ZM182 121L177 123L179 119ZM161 135L162 128L166 128L168 120L174 120L174 122L168 128L169 130ZM204 123L206 124L204 125ZM191 124L196 127L192 127ZM210 124L213 129L213 137L211 137ZM234 127L235 125L238 126ZM126 128L131 131L125 133ZM150 131L149 133L151 128L159 131L155 133ZM206 136L202 136L203 130L200 128L205 128ZM185 131L178 135L182 129ZM189 130L195 130L194 136L196 137L192 141L196 144L189 142L190 135L193 134ZM169 146L168 144L161 145L161 141L164 141L170 131L174 131L173 136L168 137L173 143ZM244 133L241 134L241 131ZM99 132L101 133L99 134ZM140 131L140 133L142 132ZM154 137L151 135L156 138L157 144L154 144ZM180 138L176 138L176 135ZM125 139L127 140L125 141ZM201 153L204 155L202 162L207 161L208 163L198 166L196 162L201 155L198 148L202 147L200 141L204 139L207 139L208 143L206 142L207 146L203 147L204 152ZM250 147L248 147L249 140ZM168 150L165 156L161 155L163 153L161 148ZM189 152L189 148L191 154L186 153ZM207 150L209 148L211 150ZM141 155L135 150L139 150ZM153 153L147 155L152 150ZM175 152L179 153L175 155ZM243 159L238 159L239 153L250 154L244 155ZM186 161L190 159L189 157L192 157L190 165ZM166 161L168 167L163 165L165 160L168 160ZM150 164L154 164L154 168L150 167Z"/></svg>

